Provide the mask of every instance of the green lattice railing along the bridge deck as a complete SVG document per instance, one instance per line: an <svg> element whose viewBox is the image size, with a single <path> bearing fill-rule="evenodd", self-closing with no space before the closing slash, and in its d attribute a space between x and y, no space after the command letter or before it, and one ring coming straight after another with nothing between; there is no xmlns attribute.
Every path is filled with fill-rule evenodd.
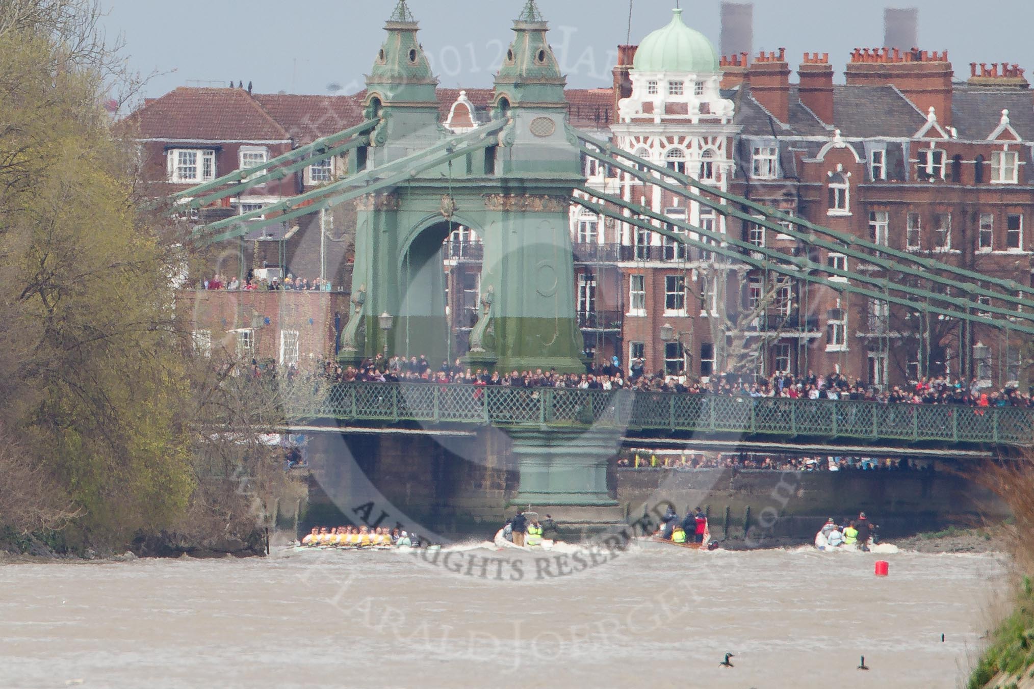
<svg viewBox="0 0 1034 689"><path fill-rule="evenodd" d="M741 436L1034 444L1034 409L435 383L288 394L294 419L590 426Z"/></svg>

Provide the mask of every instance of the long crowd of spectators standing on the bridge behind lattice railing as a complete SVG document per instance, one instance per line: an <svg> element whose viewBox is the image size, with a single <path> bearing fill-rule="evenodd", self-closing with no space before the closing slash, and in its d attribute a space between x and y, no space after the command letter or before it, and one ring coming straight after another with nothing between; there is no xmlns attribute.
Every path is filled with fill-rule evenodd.
<svg viewBox="0 0 1034 689"><path fill-rule="evenodd" d="M859 400L887 404L947 404L974 407L1034 407L1030 394L1015 387L993 388L976 378L969 382L947 376L932 376L907 385L880 390L841 373L825 376L809 371L807 376L776 374L768 378L753 374L727 372L706 380L694 380L683 372L645 373L640 361L633 362L628 374L616 359L590 368L585 373L565 374L535 369L489 372L463 366L461 359L433 366L426 356L390 356L377 354L359 367L338 366L328 362L326 375L335 382L426 382L504 385L511 387L562 387L576 389L631 389L637 392L677 393L683 395L723 395L752 398L809 400Z"/></svg>

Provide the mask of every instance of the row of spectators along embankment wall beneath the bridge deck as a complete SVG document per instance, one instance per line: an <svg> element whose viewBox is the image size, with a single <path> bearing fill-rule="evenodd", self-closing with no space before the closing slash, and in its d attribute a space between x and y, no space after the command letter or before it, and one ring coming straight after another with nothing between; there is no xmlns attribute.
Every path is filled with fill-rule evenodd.
<svg viewBox="0 0 1034 689"><path fill-rule="evenodd" d="M845 456L758 456L737 455L673 455L632 452L616 460L618 469L732 469L738 471L933 471L930 461L909 458L874 458Z"/></svg>

